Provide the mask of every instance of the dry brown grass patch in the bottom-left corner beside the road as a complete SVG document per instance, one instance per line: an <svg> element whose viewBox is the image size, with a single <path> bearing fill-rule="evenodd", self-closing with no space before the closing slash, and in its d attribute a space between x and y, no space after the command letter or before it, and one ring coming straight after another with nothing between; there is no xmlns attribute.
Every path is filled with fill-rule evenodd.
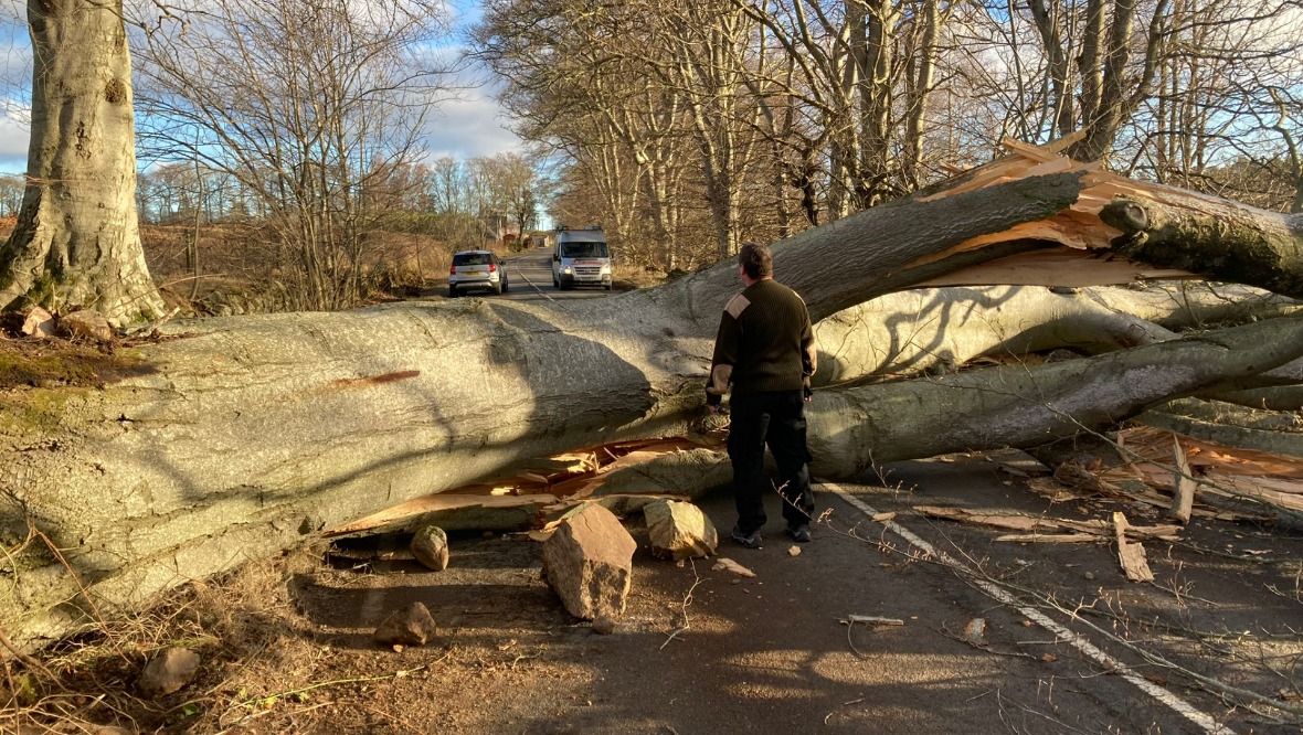
<svg viewBox="0 0 1303 735"><path fill-rule="evenodd" d="M323 675L321 645L293 610L287 575L315 564L305 550L248 564L173 590L138 615L102 620L43 652L39 667L8 658L0 732L220 732L281 700L308 702ZM176 695L139 696L145 663L173 646L202 657L199 678ZM296 722L330 730L310 713Z"/></svg>

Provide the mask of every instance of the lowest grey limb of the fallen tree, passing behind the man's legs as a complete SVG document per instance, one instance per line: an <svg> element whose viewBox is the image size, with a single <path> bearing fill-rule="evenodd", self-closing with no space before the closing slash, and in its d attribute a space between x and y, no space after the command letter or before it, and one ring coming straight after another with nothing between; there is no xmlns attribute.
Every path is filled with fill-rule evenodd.
<svg viewBox="0 0 1303 735"><path fill-rule="evenodd" d="M1143 412L1171 397L1270 382L1261 370L1303 356L1300 328L1303 315L1291 315L1068 362L816 391L810 473L837 480L907 459L1104 431L1154 416ZM597 494L653 486L696 495L728 477L723 448L704 448L603 476Z"/></svg>

